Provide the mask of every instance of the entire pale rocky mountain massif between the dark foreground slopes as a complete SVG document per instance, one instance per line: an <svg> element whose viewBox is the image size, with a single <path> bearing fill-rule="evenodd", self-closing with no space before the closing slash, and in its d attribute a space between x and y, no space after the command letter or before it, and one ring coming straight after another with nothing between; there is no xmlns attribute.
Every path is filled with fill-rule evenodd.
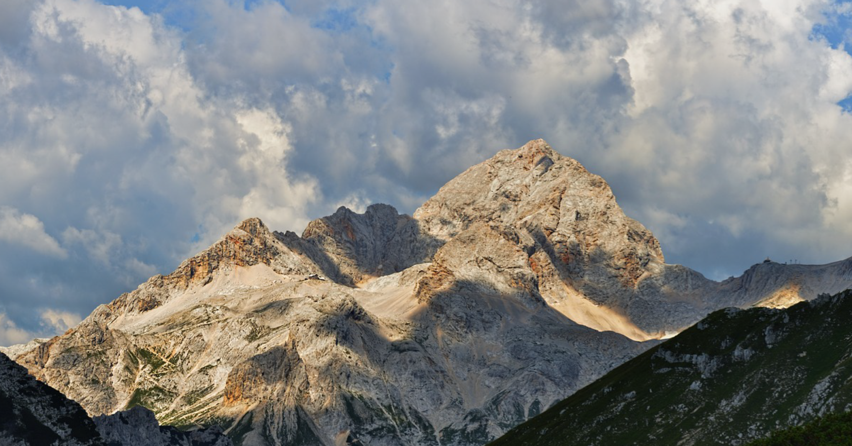
<svg viewBox="0 0 852 446"><path fill-rule="evenodd" d="M413 217L340 208L301 236L245 220L14 359L91 415L141 405L238 444L473 445L712 310L836 292L850 271L719 283L665 264L601 177L536 140Z"/></svg>

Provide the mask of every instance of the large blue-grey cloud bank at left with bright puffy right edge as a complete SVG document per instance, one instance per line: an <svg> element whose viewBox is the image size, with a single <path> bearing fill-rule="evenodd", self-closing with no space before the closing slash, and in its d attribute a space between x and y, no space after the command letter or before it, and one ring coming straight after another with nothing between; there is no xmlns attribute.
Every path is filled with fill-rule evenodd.
<svg viewBox="0 0 852 446"><path fill-rule="evenodd" d="M43 254L0 251L20 327L59 300L88 313L243 218L307 223L321 195L287 171L290 127L211 95L159 16L92 0L0 8L20 19L0 32L0 238Z"/></svg>

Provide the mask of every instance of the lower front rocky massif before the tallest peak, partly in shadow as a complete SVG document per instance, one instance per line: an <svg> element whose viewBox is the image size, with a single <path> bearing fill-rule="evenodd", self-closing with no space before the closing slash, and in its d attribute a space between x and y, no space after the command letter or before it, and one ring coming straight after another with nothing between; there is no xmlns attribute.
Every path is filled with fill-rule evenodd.
<svg viewBox="0 0 852 446"><path fill-rule="evenodd" d="M568 321L530 290L507 296L508 283L441 275L457 268L443 252L482 261L469 249L473 236L447 243L431 265L362 288L291 263L282 239L245 222L17 359L91 414L141 404L165 424L229 426L237 443L352 435L437 444L440 435L465 444L496 437L643 350ZM508 240L495 248L514 255L495 257L495 275L523 255Z"/></svg>

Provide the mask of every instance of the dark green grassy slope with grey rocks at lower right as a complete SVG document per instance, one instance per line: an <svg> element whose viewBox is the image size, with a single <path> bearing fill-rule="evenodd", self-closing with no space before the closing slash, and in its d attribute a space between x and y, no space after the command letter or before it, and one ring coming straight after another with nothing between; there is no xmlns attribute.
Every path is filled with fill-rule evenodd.
<svg viewBox="0 0 852 446"><path fill-rule="evenodd" d="M852 290L719 310L489 446L737 445L849 411L850 319Z"/></svg>

